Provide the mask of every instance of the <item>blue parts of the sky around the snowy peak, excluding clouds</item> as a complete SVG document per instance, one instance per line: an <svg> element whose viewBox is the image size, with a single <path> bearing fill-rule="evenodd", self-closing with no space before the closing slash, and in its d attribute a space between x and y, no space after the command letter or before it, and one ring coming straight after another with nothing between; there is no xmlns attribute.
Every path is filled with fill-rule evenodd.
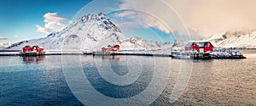
<svg viewBox="0 0 256 106"><path fill-rule="evenodd" d="M96 5L90 5L87 8L83 7L90 4L92 0L0 0L0 42L19 42L33 38L47 36L48 34L42 31L46 29L44 21L45 17L62 18L62 20L73 20L77 18L77 13L96 14L103 12L109 14L108 11L119 9L123 0L96 0ZM47 15L47 16L46 16ZM111 19L114 18L109 15ZM122 18L122 17L121 17ZM129 19L129 18L128 18ZM131 20L131 19L130 19ZM57 21L59 22L59 21ZM119 23L117 23L119 24ZM38 27L41 28L38 32ZM138 29L134 29L134 27ZM125 36L141 36L149 41L172 42L170 33L161 31L156 27L143 27L133 25L129 28L120 26L121 31ZM123 30L122 30L123 29ZM160 35L156 36L156 35ZM3 40L7 38L7 40ZM170 39L171 38L171 39Z"/></svg>

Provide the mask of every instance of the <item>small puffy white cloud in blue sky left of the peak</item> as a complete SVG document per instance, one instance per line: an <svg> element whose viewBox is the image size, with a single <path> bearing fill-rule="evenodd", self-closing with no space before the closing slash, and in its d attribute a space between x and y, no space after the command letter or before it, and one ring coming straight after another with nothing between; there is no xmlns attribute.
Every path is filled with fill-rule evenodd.
<svg viewBox="0 0 256 106"><path fill-rule="evenodd" d="M57 13L44 14L44 27L36 25L38 32L49 34L55 31L61 31L69 23L69 20L65 17L58 15Z"/></svg>

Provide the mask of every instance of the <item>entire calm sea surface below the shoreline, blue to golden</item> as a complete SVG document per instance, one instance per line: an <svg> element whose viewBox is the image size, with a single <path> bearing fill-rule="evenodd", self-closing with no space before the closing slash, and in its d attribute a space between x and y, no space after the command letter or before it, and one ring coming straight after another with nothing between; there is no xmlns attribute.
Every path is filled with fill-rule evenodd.
<svg viewBox="0 0 256 106"><path fill-rule="evenodd" d="M0 105L256 104L247 59L0 57Z"/></svg>

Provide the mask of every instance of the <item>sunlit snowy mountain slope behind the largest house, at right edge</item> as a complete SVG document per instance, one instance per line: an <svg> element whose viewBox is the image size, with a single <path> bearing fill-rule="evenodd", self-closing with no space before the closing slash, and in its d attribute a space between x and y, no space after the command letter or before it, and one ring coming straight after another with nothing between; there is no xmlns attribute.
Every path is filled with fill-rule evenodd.
<svg viewBox="0 0 256 106"><path fill-rule="evenodd" d="M256 48L256 31L224 32L211 36L204 41L212 42L214 47L247 47Z"/></svg>

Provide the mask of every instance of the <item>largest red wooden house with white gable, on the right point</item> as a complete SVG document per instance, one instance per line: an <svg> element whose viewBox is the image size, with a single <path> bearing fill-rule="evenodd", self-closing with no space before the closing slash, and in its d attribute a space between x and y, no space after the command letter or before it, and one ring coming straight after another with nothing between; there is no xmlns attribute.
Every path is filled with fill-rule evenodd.
<svg viewBox="0 0 256 106"><path fill-rule="evenodd" d="M186 52L208 53L213 51L211 42L189 42L185 46Z"/></svg>

